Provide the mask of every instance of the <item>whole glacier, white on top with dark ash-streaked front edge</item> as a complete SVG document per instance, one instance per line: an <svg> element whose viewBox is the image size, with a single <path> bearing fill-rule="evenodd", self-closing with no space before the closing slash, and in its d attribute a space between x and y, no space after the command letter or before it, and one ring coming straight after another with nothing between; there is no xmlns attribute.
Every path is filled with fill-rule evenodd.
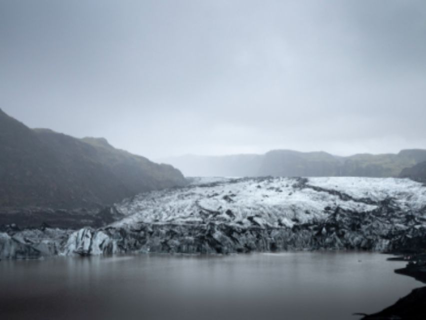
<svg viewBox="0 0 426 320"><path fill-rule="evenodd" d="M402 178L196 178L112 207L100 228L0 232L0 258L426 247L426 186Z"/></svg>

